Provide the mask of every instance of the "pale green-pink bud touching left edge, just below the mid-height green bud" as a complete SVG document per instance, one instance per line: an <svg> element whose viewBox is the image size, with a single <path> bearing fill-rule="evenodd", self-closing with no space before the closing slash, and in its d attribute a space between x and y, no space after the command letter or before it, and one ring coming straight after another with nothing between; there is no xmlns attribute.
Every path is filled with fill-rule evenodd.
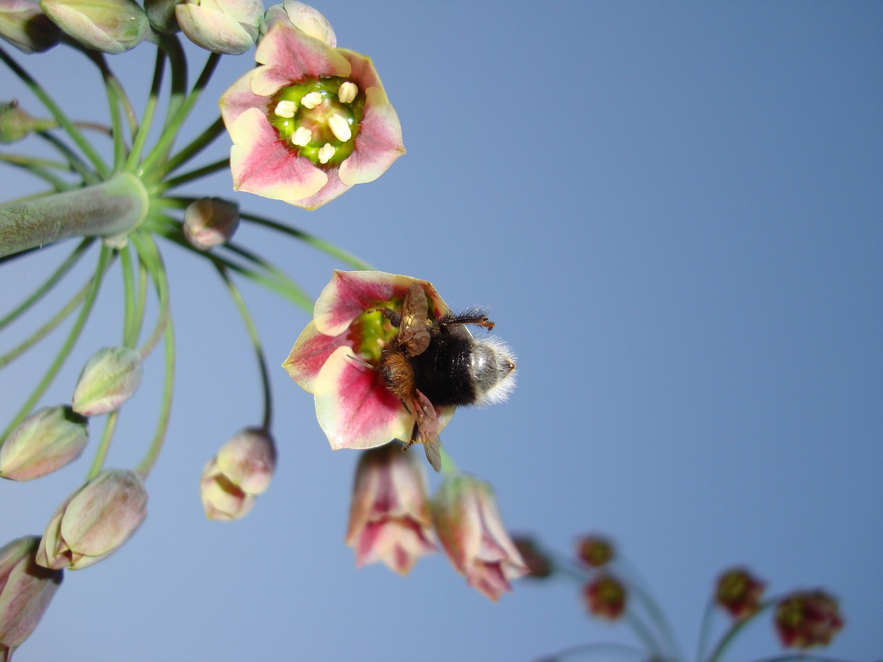
<svg viewBox="0 0 883 662"><path fill-rule="evenodd" d="M34 411L0 447L0 476L40 478L76 460L89 440L89 425L70 407Z"/></svg>

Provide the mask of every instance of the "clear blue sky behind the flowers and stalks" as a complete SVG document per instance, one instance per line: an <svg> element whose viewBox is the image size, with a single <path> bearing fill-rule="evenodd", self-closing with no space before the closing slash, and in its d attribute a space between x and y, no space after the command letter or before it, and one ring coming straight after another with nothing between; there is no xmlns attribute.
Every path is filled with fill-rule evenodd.
<svg viewBox="0 0 883 662"><path fill-rule="evenodd" d="M746 564L771 593L824 586L841 599L846 628L826 654L883 656L883 5L317 6L341 46L374 58L408 154L313 213L233 194L227 173L192 192L432 281L454 308L491 306L517 351L518 387L509 402L458 411L446 448L494 485L510 530L564 553L587 531L613 538L688 654L715 577ZM16 56L69 114L106 117L79 54ZM110 58L139 107L152 57L144 46ZM223 58L192 135L252 64ZM9 71L0 90L37 109ZM205 162L228 147L223 136ZM37 186L3 173L5 198ZM247 225L237 238L313 296L340 266ZM0 268L4 310L67 250ZM174 246L163 255L179 364L149 516L108 560L67 573L16 662L527 662L634 641L587 618L563 578L519 582L494 605L442 554L404 579L354 568L343 535L358 454L330 450L312 396L281 367L273 485L245 520L208 522L200 472L260 422L260 382L213 270ZM86 280L94 257L85 262L67 291ZM114 271L45 403L67 401L85 359L119 342L119 281ZM242 290L277 366L309 318ZM0 374L4 419L60 337ZM132 466L153 435L161 353L146 370L111 466ZM0 483L2 542L42 532L87 466ZM763 619L728 659L777 651Z"/></svg>

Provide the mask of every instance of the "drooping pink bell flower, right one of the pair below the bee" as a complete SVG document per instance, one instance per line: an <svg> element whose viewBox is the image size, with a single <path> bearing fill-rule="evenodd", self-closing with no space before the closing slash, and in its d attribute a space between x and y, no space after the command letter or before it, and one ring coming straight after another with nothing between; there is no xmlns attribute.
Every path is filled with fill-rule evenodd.
<svg viewBox="0 0 883 662"><path fill-rule="evenodd" d="M490 485L466 474L447 476L433 497L435 532L451 565L494 602L528 572L502 525Z"/></svg>

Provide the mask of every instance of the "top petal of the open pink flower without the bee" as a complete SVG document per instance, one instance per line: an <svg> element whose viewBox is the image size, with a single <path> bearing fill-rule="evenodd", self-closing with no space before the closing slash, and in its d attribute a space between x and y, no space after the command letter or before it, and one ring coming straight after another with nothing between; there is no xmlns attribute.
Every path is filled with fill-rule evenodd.
<svg viewBox="0 0 883 662"><path fill-rule="evenodd" d="M305 78L346 77L351 71L346 58L328 44L283 23L276 23L260 40L254 59L265 65L252 79L253 93L261 96L272 96Z"/></svg>

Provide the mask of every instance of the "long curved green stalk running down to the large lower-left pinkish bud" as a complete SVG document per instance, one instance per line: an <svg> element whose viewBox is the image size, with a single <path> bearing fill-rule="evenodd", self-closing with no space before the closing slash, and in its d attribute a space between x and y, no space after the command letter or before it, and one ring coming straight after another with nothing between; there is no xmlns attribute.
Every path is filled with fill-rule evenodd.
<svg viewBox="0 0 883 662"><path fill-rule="evenodd" d="M169 429L171 415L171 402L175 386L175 333L172 327L171 311L169 307L169 283L166 280L165 267L162 264L162 256L156 248L153 237L136 232L132 235L132 243L138 250L140 260L147 267L147 271L155 284L156 295L160 300L160 307L165 313L162 317L164 323L165 344L165 380L162 387L162 406L156 425L154 439L147 448L147 453L135 467L135 471L141 478L146 479L150 470L153 469L156 458L162 450L166 432Z"/></svg>

